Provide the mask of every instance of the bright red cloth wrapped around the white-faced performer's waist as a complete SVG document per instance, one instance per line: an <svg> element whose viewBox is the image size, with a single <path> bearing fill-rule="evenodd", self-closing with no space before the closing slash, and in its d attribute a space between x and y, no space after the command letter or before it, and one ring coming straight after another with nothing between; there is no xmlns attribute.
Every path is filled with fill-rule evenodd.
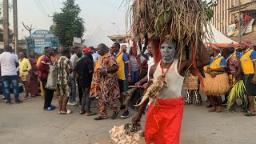
<svg viewBox="0 0 256 144"><path fill-rule="evenodd" d="M150 104L146 115L145 141L147 144L178 144L181 132L184 99L160 99Z"/></svg>

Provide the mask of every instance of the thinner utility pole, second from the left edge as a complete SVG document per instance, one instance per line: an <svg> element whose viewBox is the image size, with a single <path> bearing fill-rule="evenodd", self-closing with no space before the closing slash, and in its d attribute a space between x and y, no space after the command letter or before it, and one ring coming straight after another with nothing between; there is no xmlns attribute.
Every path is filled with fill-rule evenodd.
<svg viewBox="0 0 256 144"><path fill-rule="evenodd" d="M14 6L14 50L18 54L18 14L17 14L17 0L13 0Z"/></svg>

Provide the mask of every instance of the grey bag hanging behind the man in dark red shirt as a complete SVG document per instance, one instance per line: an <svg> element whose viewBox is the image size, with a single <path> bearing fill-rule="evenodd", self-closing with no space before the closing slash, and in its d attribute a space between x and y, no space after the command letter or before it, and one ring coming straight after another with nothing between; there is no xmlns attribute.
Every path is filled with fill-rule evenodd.
<svg viewBox="0 0 256 144"><path fill-rule="evenodd" d="M57 66L50 65L46 88L49 90L57 90Z"/></svg>

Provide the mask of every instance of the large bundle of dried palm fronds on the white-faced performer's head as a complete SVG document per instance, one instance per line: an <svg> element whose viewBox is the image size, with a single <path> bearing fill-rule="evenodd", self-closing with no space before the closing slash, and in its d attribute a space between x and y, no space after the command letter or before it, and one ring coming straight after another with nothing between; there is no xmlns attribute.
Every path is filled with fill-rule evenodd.
<svg viewBox="0 0 256 144"><path fill-rule="evenodd" d="M126 0L129 3L132 0ZM185 46L197 49L204 39L210 40L210 18L215 2L201 0L133 0L130 9L132 33L135 38L178 41L178 56ZM170 41L169 41L170 42ZM197 51L197 50L195 50Z"/></svg>

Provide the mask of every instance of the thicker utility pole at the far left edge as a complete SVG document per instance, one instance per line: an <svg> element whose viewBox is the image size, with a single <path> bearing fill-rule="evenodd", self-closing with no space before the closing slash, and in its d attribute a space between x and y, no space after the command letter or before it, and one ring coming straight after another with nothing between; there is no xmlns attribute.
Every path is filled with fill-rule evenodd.
<svg viewBox="0 0 256 144"><path fill-rule="evenodd" d="M8 0L3 0L3 18L2 18L2 28L3 28L3 43L4 46L9 45L9 3Z"/></svg>

